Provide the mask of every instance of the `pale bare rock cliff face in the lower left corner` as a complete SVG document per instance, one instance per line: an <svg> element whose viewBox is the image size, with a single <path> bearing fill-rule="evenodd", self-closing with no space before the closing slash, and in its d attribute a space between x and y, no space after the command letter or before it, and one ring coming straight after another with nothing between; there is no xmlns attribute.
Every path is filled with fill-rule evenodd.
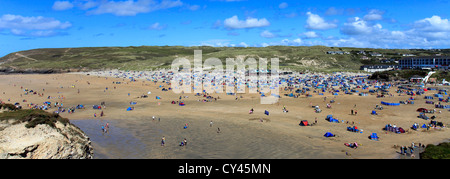
<svg viewBox="0 0 450 179"><path fill-rule="evenodd" d="M16 120L0 121L0 159L92 159L86 134L73 124L56 122L25 127Z"/></svg>

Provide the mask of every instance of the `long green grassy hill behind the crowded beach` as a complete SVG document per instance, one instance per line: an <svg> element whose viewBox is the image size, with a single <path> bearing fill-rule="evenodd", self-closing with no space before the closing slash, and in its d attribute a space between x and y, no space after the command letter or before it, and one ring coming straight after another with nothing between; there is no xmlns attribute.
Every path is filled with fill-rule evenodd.
<svg viewBox="0 0 450 179"><path fill-rule="evenodd" d="M86 47L86 48L53 48L33 49L8 54L0 58L0 68L16 70L73 70L87 71L93 69L151 70L170 68L177 57L185 57L191 61L194 50L203 51L203 60L210 57L219 58L225 66L226 58L238 56L249 58L280 59L280 68L296 71L358 71L361 65L377 64L378 58L366 54L376 52L383 58L401 58L402 54L431 55L436 52L408 49L368 49L350 47L183 47L183 46L140 46L140 47ZM332 55L327 51L345 51L350 54ZM363 60L367 56L372 60Z"/></svg>

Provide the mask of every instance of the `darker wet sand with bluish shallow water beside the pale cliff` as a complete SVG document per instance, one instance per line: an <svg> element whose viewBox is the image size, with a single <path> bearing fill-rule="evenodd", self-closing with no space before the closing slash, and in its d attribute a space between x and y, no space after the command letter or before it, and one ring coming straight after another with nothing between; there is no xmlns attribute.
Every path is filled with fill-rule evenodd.
<svg viewBox="0 0 450 179"><path fill-rule="evenodd" d="M101 126L109 123L108 133ZM304 159L345 158L278 135L263 123L234 124L209 119L71 120L91 139L95 159ZM189 127L184 129L188 124ZM220 127L220 133L217 128ZM251 132L249 132L251 131ZM161 146L161 138L165 145ZM186 146L180 142L187 140ZM274 140L276 139L276 140ZM323 140L323 139L318 139Z"/></svg>

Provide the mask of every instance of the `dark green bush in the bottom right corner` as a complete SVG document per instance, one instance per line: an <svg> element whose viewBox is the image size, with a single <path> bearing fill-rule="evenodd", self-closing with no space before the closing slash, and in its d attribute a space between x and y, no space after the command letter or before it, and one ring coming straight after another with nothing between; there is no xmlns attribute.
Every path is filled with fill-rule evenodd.
<svg viewBox="0 0 450 179"><path fill-rule="evenodd" d="M439 145L429 144L425 152L420 153L421 159L450 159L450 142Z"/></svg>

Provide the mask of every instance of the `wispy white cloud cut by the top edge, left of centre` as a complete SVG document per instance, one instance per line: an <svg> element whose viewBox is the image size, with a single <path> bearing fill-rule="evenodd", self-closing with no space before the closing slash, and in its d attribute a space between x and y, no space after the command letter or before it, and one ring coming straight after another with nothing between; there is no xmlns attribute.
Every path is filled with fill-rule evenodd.
<svg viewBox="0 0 450 179"><path fill-rule="evenodd" d="M96 9L88 11L88 14L114 14L116 16L135 16L139 13L148 13L156 10L169 9L182 6L180 0L127 0L127 1L101 1Z"/></svg>

